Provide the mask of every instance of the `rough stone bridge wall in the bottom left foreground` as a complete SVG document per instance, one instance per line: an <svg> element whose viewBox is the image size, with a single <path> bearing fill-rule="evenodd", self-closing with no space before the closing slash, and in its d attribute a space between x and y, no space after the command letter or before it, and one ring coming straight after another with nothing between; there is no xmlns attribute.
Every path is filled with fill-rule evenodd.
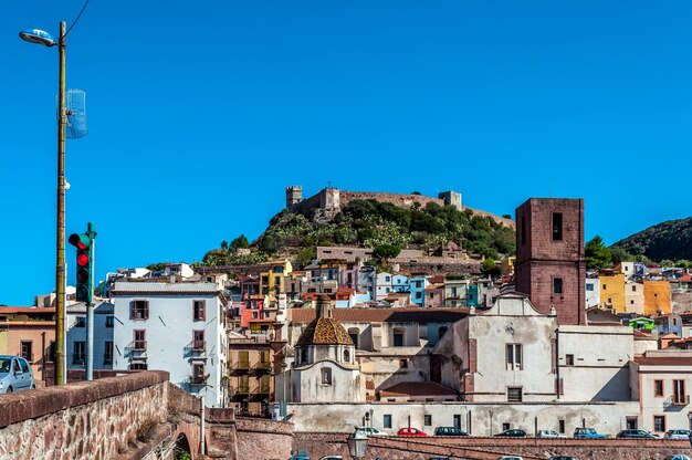
<svg viewBox="0 0 692 460"><path fill-rule="evenodd" d="M143 425L166 420L167 380L143 372L2 395L0 458L116 458Z"/></svg>

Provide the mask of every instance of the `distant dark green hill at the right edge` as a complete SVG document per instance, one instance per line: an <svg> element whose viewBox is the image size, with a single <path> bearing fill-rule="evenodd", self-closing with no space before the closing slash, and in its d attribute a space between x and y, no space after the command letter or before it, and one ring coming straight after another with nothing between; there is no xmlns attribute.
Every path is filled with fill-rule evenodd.
<svg viewBox="0 0 692 460"><path fill-rule="evenodd" d="M650 260L692 260L692 217L669 220L635 233L612 244L632 255Z"/></svg>

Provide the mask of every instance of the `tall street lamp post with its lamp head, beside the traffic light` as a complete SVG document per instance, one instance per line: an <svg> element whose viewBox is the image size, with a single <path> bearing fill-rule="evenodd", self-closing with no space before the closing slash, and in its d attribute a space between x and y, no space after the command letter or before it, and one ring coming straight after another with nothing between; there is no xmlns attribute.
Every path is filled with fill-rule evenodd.
<svg viewBox="0 0 692 460"><path fill-rule="evenodd" d="M57 46L60 54L57 75L57 229L55 262L55 385L65 384L64 337L65 337L65 29L60 23L57 42L50 33L38 29L19 33L22 40L44 46Z"/></svg>

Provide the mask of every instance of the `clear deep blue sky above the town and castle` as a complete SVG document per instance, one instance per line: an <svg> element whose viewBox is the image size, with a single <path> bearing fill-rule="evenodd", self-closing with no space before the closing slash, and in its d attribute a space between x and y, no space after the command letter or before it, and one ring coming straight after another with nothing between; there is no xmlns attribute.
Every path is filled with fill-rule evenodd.
<svg viewBox="0 0 692 460"><path fill-rule="evenodd" d="M54 288L57 34L81 1L0 7L0 304ZM580 197L612 243L692 215L689 1L92 0L67 36L91 133L66 232L97 278L260 234L284 187L437 195L499 215ZM67 261L74 265L67 247ZM73 282L69 270L69 282Z"/></svg>

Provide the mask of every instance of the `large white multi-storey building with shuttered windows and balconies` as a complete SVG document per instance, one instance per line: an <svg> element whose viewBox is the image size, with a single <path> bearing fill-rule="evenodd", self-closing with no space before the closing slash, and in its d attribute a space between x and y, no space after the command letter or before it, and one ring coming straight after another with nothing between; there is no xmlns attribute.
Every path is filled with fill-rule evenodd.
<svg viewBox="0 0 692 460"><path fill-rule="evenodd" d="M159 369L170 381L227 402L227 300L217 283L116 282L114 369Z"/></svg>

